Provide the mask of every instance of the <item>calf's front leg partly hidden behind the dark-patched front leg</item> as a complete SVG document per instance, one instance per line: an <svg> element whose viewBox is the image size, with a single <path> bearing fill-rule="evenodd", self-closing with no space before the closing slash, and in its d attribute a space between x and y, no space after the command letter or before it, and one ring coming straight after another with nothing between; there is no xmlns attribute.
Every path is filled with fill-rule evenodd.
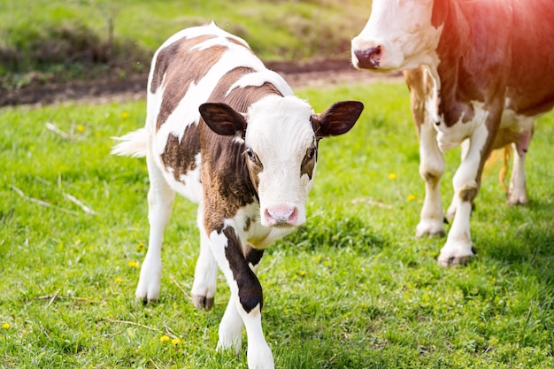
<svg viewBox="0 0 554 369"><path fill-rule="evenodd" d="M250 245L247 247L246 261L255 274L258 274L258 266L263 254L264 250L253 249ZM229 304L227 304L227 309L221 319L221 323L219 323L218 349L235 349L238 353L241 349L243 327L244 323L242 322L241 315L239 315L237 311L234 299L231 298L229 299Z"/></svg>

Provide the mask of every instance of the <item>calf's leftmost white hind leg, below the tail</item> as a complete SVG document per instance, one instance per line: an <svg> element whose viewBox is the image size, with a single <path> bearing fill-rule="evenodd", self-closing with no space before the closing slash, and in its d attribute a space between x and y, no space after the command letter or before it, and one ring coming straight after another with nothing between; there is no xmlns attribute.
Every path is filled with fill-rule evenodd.
<svg viewBox="0 0 554 369"><path fill-rule="evenodd" d="M150 238L146 257L142 262L141 276L136 287L137 299L151 301L159 297L162 275L162 241L165 226L171 217L175 192L169 188L164 176L151 156L147 156L150 189L148 191L148 220Z"/></svg>

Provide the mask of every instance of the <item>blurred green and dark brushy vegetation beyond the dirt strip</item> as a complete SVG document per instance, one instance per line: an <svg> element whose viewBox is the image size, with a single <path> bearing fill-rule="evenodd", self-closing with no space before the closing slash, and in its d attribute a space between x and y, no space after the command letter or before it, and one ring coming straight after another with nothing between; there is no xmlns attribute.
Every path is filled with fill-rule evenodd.
<svg viewBox="0 0 554 369"><path fill-rule="evenodd" d="M265 61L349 58L370 0L0 0L0 81L146 73L167 37L214 20Z"/></svg>

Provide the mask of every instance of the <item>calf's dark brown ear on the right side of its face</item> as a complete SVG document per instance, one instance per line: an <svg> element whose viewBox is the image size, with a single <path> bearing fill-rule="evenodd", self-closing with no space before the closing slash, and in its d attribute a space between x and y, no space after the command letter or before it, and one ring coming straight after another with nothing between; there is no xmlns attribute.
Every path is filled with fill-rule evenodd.
<svg viewBox="0 0 554 369"><path fill-rule="evenodd" d="M342 135L350 131L364 110L359 101L339 101L326 111L312 114L312 127L317 138Z"/></svg>

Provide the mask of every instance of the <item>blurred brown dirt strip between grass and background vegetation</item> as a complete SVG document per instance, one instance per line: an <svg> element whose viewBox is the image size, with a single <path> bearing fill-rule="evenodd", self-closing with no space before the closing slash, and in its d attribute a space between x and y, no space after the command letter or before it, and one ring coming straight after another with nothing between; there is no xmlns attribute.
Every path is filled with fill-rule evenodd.
<svg viewBox="0 0 554 369"><path fill-rule="evenodd" d="M306 63L274 62L267 67L280 73L294 88L317 87L339 83L373 82L399 79L399 74L375 74L358 71L347 59L319 60ZM125 80L105 76L92 81L33 82L12 91L0 90L0 106L18 104L53 104L74 100L93 103L138 100L145 96L148 73Z"/></svg>

